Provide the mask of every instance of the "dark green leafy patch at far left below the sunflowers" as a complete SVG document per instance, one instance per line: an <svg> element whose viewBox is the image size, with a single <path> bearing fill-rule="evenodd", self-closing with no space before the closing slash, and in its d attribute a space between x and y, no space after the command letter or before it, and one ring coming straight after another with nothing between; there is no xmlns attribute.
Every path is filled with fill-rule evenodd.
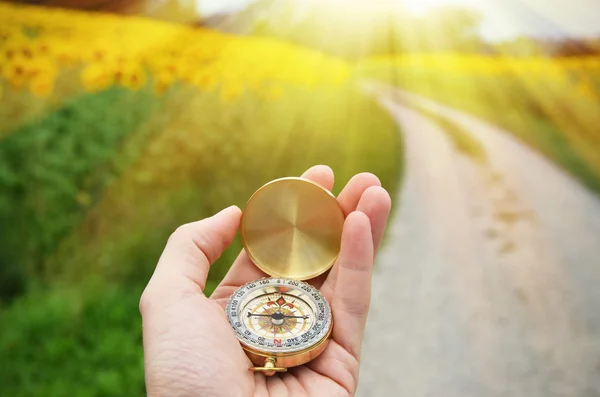
<svg viewBox="0 0 600 397"><path fill-rule="evenodd" d="M0 299L18 292L19 275L39 275L44 258L119 174L127 163L120 145L153 101L116 88L83 96L0 141L0 224L10 225L0 229Z"/></svg>

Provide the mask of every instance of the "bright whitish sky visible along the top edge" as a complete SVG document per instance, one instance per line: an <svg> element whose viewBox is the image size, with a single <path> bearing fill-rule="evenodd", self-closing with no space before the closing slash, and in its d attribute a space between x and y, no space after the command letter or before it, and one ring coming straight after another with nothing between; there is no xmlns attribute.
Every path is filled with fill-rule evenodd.
<svg viewBox="0 0 600 397"><path fill-rule="evenodd" d="M253 0L198 1L200 12L210 15L242 9ZM320 1L342 4L351 0ZM489 41L509 40L520 35L545 38L600 36L600 0L404 0L404 3L415 14L440 5L477 10L483 16L481 36Z"/></svg>

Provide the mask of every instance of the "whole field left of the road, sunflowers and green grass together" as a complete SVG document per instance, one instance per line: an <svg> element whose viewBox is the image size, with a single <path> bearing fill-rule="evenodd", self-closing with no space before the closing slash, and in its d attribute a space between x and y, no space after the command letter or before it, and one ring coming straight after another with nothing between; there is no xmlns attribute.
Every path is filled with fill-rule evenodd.
<svg viewBox="0 0 600 397"><path fill-rule="evenodd" d="M0 59L3 395L143 395L139 296L178 225L317 163L400 181L396 126L316 51L0 4Z"/></svg>

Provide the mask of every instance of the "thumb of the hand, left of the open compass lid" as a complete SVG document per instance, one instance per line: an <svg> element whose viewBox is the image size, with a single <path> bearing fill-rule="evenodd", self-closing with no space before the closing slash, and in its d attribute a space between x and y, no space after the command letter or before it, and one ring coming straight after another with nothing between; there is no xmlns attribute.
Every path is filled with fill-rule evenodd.
<svg viewBox="0 0 600 397"><path fill-rule="evenodd" d="M169 237L147 289L203 291L210 265L235 238L240 218L240 209L231 206L210 218L178 227Z"/></svg>

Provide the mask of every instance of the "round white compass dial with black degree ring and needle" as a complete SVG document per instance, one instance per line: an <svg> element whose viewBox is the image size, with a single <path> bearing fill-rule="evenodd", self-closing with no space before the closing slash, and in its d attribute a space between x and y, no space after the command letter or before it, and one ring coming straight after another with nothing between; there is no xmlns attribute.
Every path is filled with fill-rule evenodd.
<svg viewBox="0 0 600 397"><path fill-rule="evenodd" d="M242 344L265 353L293 353L325 338L331 309L321 293L302 281L256 280L227 302L227 317Z"/></svg>

